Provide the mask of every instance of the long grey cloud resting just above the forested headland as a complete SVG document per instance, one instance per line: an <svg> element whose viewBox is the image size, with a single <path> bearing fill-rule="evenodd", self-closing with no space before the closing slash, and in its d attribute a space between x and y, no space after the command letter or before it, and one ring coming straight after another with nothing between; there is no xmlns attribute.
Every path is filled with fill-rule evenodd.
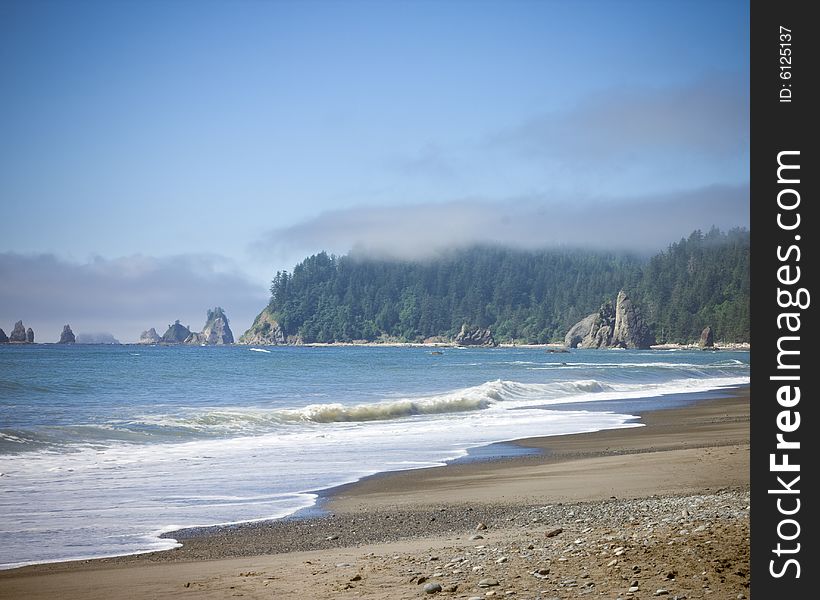
<svg viewBox="0 0 820 600"><path fill-rule="evenodd" d="M748 186L710 186L654 197L530 197L329 211L270 231L252 252L280 260L352 249L425 258L475 244L654 252L695 229L748 224Z"/></svg>

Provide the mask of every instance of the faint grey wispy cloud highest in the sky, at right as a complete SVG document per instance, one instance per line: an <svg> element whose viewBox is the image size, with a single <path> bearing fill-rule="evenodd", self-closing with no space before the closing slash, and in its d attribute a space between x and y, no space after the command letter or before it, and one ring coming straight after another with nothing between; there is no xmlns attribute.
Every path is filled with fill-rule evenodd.
<svg viewBox="0 0 820 600"><path fill-rule="evenodd" d="M714 76L679 87L610 89L496 132L488 142L519 156L589 161L590 168L682 154L702 161L745 156L748 83Z"/></svg>

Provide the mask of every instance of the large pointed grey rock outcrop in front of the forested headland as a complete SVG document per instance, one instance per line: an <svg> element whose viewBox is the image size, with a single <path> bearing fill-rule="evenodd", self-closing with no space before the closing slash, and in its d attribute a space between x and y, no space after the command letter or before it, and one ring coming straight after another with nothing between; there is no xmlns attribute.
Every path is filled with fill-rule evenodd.
<svg viewBox="0 0 820 600"><path fill-rule="evenodd" d="M604 302L597 313L569 329L564 343L570 348L649 348L655 340L638 307L621 290L614 308Z"/></svg>

